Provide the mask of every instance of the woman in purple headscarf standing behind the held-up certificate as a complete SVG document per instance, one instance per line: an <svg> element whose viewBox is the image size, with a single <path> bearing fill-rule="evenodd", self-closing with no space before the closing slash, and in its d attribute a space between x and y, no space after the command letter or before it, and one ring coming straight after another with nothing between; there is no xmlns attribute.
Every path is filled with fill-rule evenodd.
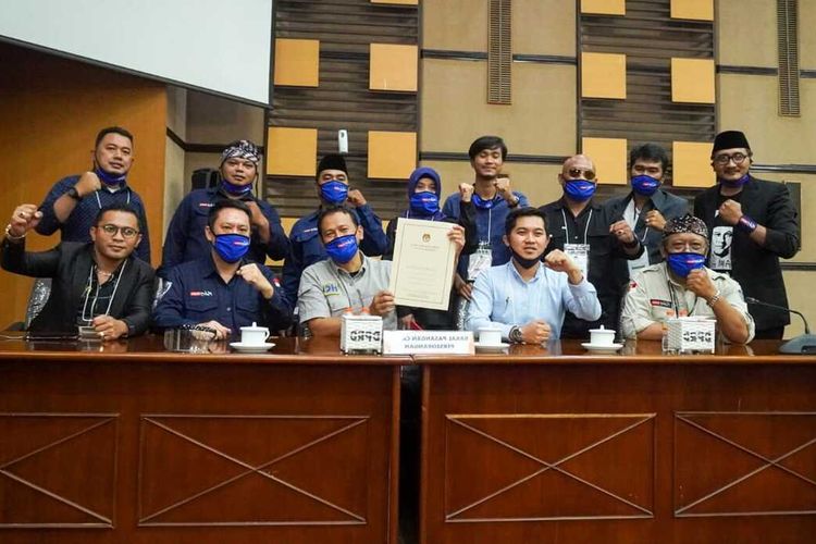
<svg viewBox="0 0 816 544"><path fill-rule="evenodd" d="M456 219L446 217L440 209L440 195L442 193L442 180L438 172L429 166L420 166L411 172L408 178L408 209L403 212L401 218L421 219L424 221L445 221L457 223ZM472 201L473 186L461 184L459 186L459 220L458 224L465 228L465 248L462 254L470 255L475 251L479 239L475 227L475 207ZM388 249L383 254L384 260L393 260L394 245L397 235L398 219L394 218L388 223L385 234L388 237ZM397 313L404 329L429 329L437 331L449 331L454 327L453 312L454 295L452 290L448 310L429 310L426 308L398 307Z"/></svg>

